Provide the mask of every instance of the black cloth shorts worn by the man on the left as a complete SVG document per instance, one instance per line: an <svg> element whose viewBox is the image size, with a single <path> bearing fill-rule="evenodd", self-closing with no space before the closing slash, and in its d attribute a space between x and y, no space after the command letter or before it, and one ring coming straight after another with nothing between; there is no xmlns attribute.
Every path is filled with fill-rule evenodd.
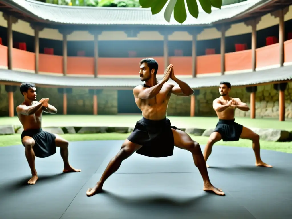
<svg viewBox="0 0 292 219"><path fill-rule="evenodd" d="M56 153L56 136L54 134L43 131L43 129L40 128L23 131L21 133L21 140L24 136L29 136L34 139L35 144L33 150L36 157L44 158Z"/></svg>

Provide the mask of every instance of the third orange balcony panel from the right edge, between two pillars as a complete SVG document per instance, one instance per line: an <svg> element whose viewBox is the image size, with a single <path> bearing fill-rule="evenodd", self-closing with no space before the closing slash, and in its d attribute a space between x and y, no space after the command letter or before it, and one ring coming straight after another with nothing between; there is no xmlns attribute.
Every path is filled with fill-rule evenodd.
<svg viewBox="0 0 292 219"><path fill-rule="evenodd" d="M225 71L251 69L251 49L225 53Z"/></svg>

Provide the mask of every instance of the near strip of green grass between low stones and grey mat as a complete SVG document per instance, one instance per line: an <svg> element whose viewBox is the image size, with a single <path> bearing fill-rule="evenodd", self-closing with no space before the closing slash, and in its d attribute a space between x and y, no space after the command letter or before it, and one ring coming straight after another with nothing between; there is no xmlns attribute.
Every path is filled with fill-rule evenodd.
<svg viewBox="0 0 292 219"><path fill-rule="evenodd" d="M86 140L125 140L128 137L127 134L119 133L102 133L102 134L64 134L60 135L69 142L72 141L86 141ZM20 134L15 135L2 135L0 136L0 146L20 145ZM201 145L205 145L208 141L208 137L191 135L192 139L199 142ZM273 150L279 152L292 153L291 142L267 142L261 141L261 148L266 150ZM237 142L223 142L219 141L215 145L225 145L234 147L252 147L250 140L240 139ZM252 150L252 149L251 149Z"/></svg>

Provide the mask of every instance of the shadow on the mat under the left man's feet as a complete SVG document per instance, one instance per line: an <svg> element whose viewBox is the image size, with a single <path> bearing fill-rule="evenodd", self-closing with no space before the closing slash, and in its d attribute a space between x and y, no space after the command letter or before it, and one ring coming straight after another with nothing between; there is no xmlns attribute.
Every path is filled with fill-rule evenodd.
<svg viewBox="0 0 292 219"><path fill-rule="evenodd" d="M4 181L4 183L1 183L1 190L7 190L10 192L17 191L23 188L26 188L28 186L37 186L41 183L48 183L51 180L56 180L56 178L61 179L65 177L65 175L68 173L58 173L54 175L39 175L39 179L37 180L35 185L29 185L27 181L30 179L30 175L22 177L20 179L13 179L9 181Z"/></svg>

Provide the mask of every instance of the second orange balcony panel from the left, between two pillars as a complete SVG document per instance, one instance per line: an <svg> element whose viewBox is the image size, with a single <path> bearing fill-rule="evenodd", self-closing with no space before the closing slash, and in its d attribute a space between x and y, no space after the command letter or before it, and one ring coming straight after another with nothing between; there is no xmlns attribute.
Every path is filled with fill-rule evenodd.
<svg viewBox="0 0 292 219"><path fill-rule="evenodd" d="M35 54L12 48L12 69L35 70Z"/></svg>

